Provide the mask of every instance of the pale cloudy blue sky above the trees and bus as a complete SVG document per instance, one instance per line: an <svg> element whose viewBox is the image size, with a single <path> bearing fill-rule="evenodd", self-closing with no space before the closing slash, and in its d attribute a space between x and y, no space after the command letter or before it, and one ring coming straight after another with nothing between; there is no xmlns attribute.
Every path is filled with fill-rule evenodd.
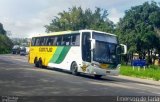
<svg viewBox="0 0 160 102"><path fill-rule="evenodd" d="M116 24L125 10L146 1L151 0L0 0L0 22L10 37L28 38L45 33L44 25L48 25L59 12L73 6L106 9L108 18Z"/></svg>

